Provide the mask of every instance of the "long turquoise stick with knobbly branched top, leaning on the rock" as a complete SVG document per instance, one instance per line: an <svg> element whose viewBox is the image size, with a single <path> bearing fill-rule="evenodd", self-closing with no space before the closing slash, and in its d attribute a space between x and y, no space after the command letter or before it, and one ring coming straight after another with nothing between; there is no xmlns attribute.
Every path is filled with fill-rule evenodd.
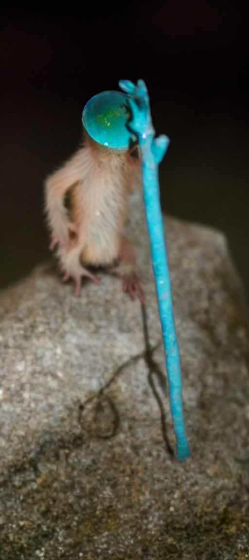
<svg viewBox="0 0 249 560"><path fill-rule="evenodd" d="M121 80L119 87L131 96L132 120L128 126L139 138L142 153L144 203L169 380L170 410L177 440L177 458L181 461L189 455L189 450L183 422L181 370L158 179L158 164L167 151L169 139L164 135L154 138L149 96L144 81L139 80L135 85L128 80Z"/></svg>

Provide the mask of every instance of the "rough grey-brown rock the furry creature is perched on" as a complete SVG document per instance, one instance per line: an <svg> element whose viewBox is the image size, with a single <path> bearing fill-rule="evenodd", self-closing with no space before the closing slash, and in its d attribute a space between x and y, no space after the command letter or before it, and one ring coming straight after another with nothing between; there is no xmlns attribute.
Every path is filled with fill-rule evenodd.
<svg viewBox="0 0 249 560"><path fill-rule="evenodd" d="M239 281L223 235L165 218L191 449L178 463L139 194L131 207L145 315L118 278L100 271L77 298L51 263L1 294L2 560L249 558Z"/></svg>

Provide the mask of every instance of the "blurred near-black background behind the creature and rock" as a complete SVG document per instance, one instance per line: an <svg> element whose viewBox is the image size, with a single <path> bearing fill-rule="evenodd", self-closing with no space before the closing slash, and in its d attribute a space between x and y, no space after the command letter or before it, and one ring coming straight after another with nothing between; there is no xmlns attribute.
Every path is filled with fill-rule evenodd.
<svg viewBox="0 0 249 560"><path fill-rule="evenodd" d="M1 17L1 287L48 258L43 182L81 140L81 112L144 78L162 206L228 237L249 292L246 2L6 2Z"/></svg>

